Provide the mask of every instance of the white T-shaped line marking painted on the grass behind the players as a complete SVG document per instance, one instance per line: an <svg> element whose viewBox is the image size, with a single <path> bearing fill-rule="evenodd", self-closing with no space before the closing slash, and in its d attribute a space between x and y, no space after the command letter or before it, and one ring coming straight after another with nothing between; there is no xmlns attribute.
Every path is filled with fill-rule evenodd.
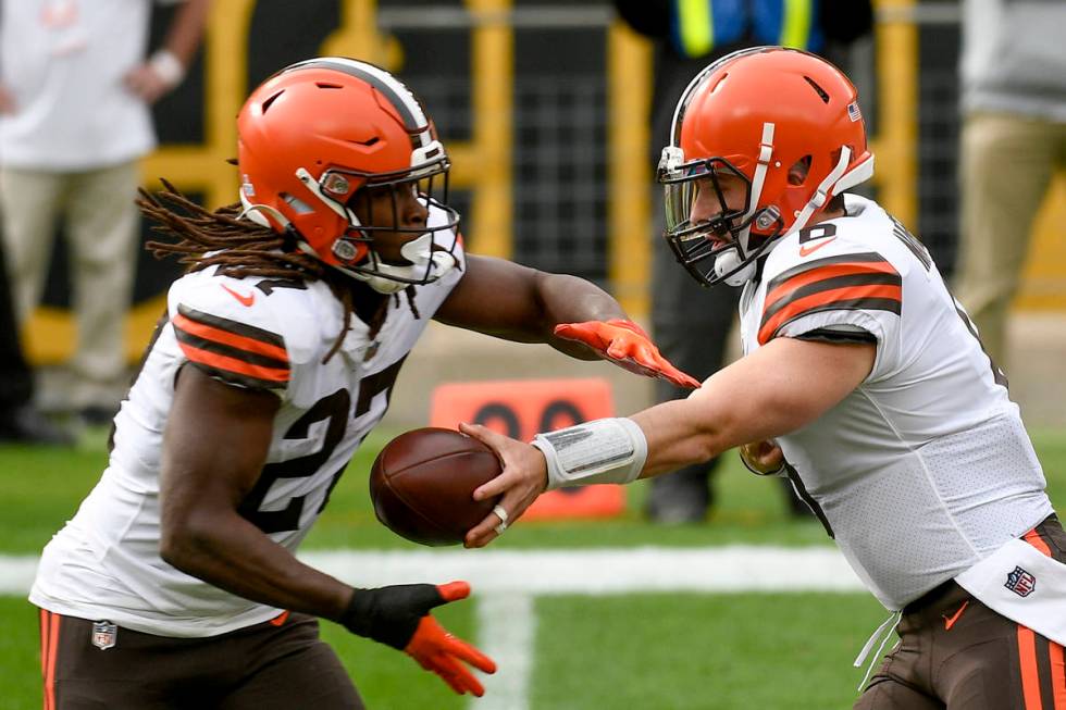
<svg viewBox="0 0 1066 710"><path fill-rule="evenodd" d="M648 591L858 591L834 548L730 545L571 550L322 550L308 564L358 586L466 580L478 600L479 647L499 667L473 710L526 710L537 595ZM36 557L0 556L0 595L25 595Z"/></svg>

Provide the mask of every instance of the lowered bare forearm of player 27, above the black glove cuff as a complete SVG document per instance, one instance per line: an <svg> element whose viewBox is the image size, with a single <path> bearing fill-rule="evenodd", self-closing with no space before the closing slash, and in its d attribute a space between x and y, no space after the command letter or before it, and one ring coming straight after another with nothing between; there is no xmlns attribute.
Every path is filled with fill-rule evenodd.
<svg viewBox="0 0 1066 710"><path fill-rule="evenodd" d="M162 558L182 572L260 603L336 620L351 587L297 560L236 512L170 521Z"/></svg>

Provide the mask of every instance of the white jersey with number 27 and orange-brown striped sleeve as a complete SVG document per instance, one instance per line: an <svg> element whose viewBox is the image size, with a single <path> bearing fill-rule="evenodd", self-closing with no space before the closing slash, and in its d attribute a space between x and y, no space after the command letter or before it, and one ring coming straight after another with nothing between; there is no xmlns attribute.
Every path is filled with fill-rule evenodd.
<svg viewBox="0 0 1066 710"><path fill-rule="evenodd" d="M461 246L455 253L464 266ZM109 465L45 548L30 601L55 613L178 637L213 636L281 613L187 575L159 555L160 458L178 369L191 363L281 398L266 465L240 510L295 551L385 414L404 359L462 273L453 269L416 288L419 319L405 294L389 297L373 339L352 316L351 331L325 364L344 309L324 283L230 278L214 267L176 281L169 321L115 420Z"/></svg>

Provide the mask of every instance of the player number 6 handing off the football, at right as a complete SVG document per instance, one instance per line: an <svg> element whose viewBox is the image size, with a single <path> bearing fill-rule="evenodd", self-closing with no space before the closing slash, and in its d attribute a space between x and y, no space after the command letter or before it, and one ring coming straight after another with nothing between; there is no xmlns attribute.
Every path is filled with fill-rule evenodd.
<svg viewBox="0 0 1066 710"><path fill-rule="evenodd" d="M1064 707L1066 535L1006 378L928 252L845 192L873 172L856 99L825 60L776 47L693 79L659 166L666 238L696 281L744 287L745 357L687 399L532 446L463 426L505 462L474 494L504 494L503 515L467 545L545 488L742 446L757 473L792 479L900 615L856 708Z"/></svg>

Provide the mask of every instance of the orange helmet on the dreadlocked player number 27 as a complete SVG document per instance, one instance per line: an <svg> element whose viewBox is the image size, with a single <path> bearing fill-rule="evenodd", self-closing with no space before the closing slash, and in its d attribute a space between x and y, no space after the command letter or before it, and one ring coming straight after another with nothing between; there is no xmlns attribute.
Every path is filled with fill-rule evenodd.
<svg viewBox="0 0 1066 710"><path fill-rule="evenodd" d="M448 155L422 104L385 70L339 57L283 68L240 109L237 154L248 219L293 234L301 251L375 290L430 283L455 264ZM392 221L361 223L352 198L363 187L392 190ZM427 225L397 226L401 190L416 190ZM374 233L382 231L412 235L401 249L409 263L379 258Z"/></svg>

